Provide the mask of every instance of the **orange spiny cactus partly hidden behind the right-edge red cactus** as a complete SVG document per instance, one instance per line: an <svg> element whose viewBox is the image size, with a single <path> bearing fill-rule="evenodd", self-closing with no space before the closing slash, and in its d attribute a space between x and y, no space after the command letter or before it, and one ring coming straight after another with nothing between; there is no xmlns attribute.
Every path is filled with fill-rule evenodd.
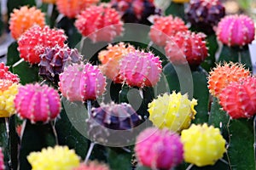
<svg viewBox="0 0 256 170"><path fill-rule="evenodd" d="M250 76L250 71L247 71L241 64L230 62L217 65L208 78L209 91L213 96L218 97L230 82L238 82L241 78L248 76Z"/></svg>

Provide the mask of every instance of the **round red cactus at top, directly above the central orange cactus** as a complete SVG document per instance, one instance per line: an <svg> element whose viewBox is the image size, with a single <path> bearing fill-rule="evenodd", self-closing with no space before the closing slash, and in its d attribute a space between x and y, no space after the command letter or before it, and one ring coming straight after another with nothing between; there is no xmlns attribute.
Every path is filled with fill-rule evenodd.
<svg viewBox="0 0 256 170"><path fill-rule="evenodd" d="M108 5L91 6L77 16L75 26L93 42L111 42L121 35L123 22L119 13Z"/></svg>

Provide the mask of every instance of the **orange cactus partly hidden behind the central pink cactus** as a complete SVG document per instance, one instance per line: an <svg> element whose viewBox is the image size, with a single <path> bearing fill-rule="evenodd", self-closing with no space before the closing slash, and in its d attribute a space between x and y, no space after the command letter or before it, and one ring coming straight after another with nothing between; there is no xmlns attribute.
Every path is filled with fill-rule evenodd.
<svg viewBox="0 0 256 170"><path fill-rule="evenodd" d="M102 62L101 70L114 82L122 82L119 80L119 60L123 58L125 54L135 52L135 48L130 44L119 42L119 44L108 45L108 50L102 50L98 58Z"/></svg>

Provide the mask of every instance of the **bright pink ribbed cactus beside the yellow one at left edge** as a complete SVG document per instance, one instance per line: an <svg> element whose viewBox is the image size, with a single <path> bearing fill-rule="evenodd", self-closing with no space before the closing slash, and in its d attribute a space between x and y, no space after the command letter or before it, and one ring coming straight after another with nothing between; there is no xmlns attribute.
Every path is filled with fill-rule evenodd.
<svg viewBox="0 0 256 170"><path fill-rule="evenodd" d="M21 118L34 122L48 122L60 114L61 99L54 88L47 85L26 84L15 97L15 108Z"/></svg>

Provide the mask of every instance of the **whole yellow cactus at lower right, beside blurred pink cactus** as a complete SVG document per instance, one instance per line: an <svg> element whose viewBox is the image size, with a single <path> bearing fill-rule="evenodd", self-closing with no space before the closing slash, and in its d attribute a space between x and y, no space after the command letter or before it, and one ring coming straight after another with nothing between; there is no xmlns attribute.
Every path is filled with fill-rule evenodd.
<svg viewBox="0 0 256 170"><path fill-rule="evenodd" d="M198 167L214 165L224 155L225 140L218 128L192 124L181 133L184 160Z"/></svg>

